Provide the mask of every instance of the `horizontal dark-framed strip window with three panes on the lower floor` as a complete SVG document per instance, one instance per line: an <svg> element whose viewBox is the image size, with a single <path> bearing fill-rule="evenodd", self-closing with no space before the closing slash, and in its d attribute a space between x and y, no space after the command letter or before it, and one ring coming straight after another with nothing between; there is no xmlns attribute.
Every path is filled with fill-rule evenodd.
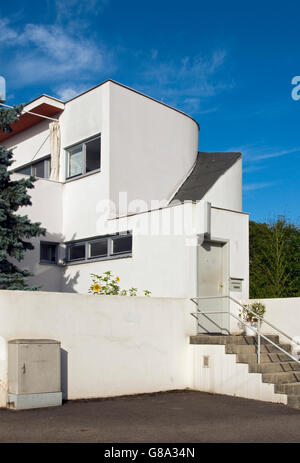
<svg viewBox="0 0 300 463"><path fill-rule="evenodd" d="M66 258L67 262L88 262L131 254L132 234L127 232L69 243Z"/></svg>

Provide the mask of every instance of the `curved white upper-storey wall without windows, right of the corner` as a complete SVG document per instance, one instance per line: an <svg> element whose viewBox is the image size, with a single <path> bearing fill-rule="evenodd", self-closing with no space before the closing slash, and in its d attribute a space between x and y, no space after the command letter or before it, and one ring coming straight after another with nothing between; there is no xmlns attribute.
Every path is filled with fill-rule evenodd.
<svg viewBox="0 0 300 463"><path fill-rule="evenodd" d="M127 88L110 86L110 198L166 204L193 166L198 125L189 116ZM119 209L119 212L124 212Z"/></svg>

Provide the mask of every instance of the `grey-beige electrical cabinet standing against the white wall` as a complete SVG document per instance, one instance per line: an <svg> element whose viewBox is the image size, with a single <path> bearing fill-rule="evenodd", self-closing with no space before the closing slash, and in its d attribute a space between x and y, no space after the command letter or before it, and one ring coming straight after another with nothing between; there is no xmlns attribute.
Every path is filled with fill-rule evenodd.
<svg viewBox="0 0 300 463"><path fill-rule="evenodd" d="M8 342L8 407L61 405L60 342L14 339Z"/></svg>

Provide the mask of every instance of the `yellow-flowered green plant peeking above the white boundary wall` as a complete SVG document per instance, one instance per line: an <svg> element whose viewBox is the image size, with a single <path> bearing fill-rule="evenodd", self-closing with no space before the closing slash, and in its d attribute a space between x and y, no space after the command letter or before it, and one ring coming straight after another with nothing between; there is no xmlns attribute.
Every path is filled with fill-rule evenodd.
<svg viewBox="0 0 300 463"><path fill-rule="evenodd" d="M120 287L120 278L118 276L114 277L110 271L104 272L102 275L97 275L91 273L92 284L89 288L89 293L91 294L100 294L100 295L110 295L110 296L136 296L138 289L129 288L121 289ZM145 296L150 296L151 291L148 289L144 290Z"/></svg>

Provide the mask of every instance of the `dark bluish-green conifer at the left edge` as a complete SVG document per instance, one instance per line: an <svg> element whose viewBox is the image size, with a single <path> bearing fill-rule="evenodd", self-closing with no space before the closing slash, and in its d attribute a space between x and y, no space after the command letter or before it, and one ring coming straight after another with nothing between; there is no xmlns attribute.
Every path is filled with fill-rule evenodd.
<svg viewBox="0 0 300 463"><path fill-rule="evenodd" d="M0 132L11 131L22 111L22 106L14 109L0 109ZM40 223L32 223L26 215L18 215L20 207L30 206L28 188L34 188L34 177L11 180L9 168L13 163L11 150L0 146L0 289L30 288L26 278L32 274L18 268L13 259L21 261L27 250L33 249L31 238L45 234ZM11 259L13 258L13 259Z"/></svg>

